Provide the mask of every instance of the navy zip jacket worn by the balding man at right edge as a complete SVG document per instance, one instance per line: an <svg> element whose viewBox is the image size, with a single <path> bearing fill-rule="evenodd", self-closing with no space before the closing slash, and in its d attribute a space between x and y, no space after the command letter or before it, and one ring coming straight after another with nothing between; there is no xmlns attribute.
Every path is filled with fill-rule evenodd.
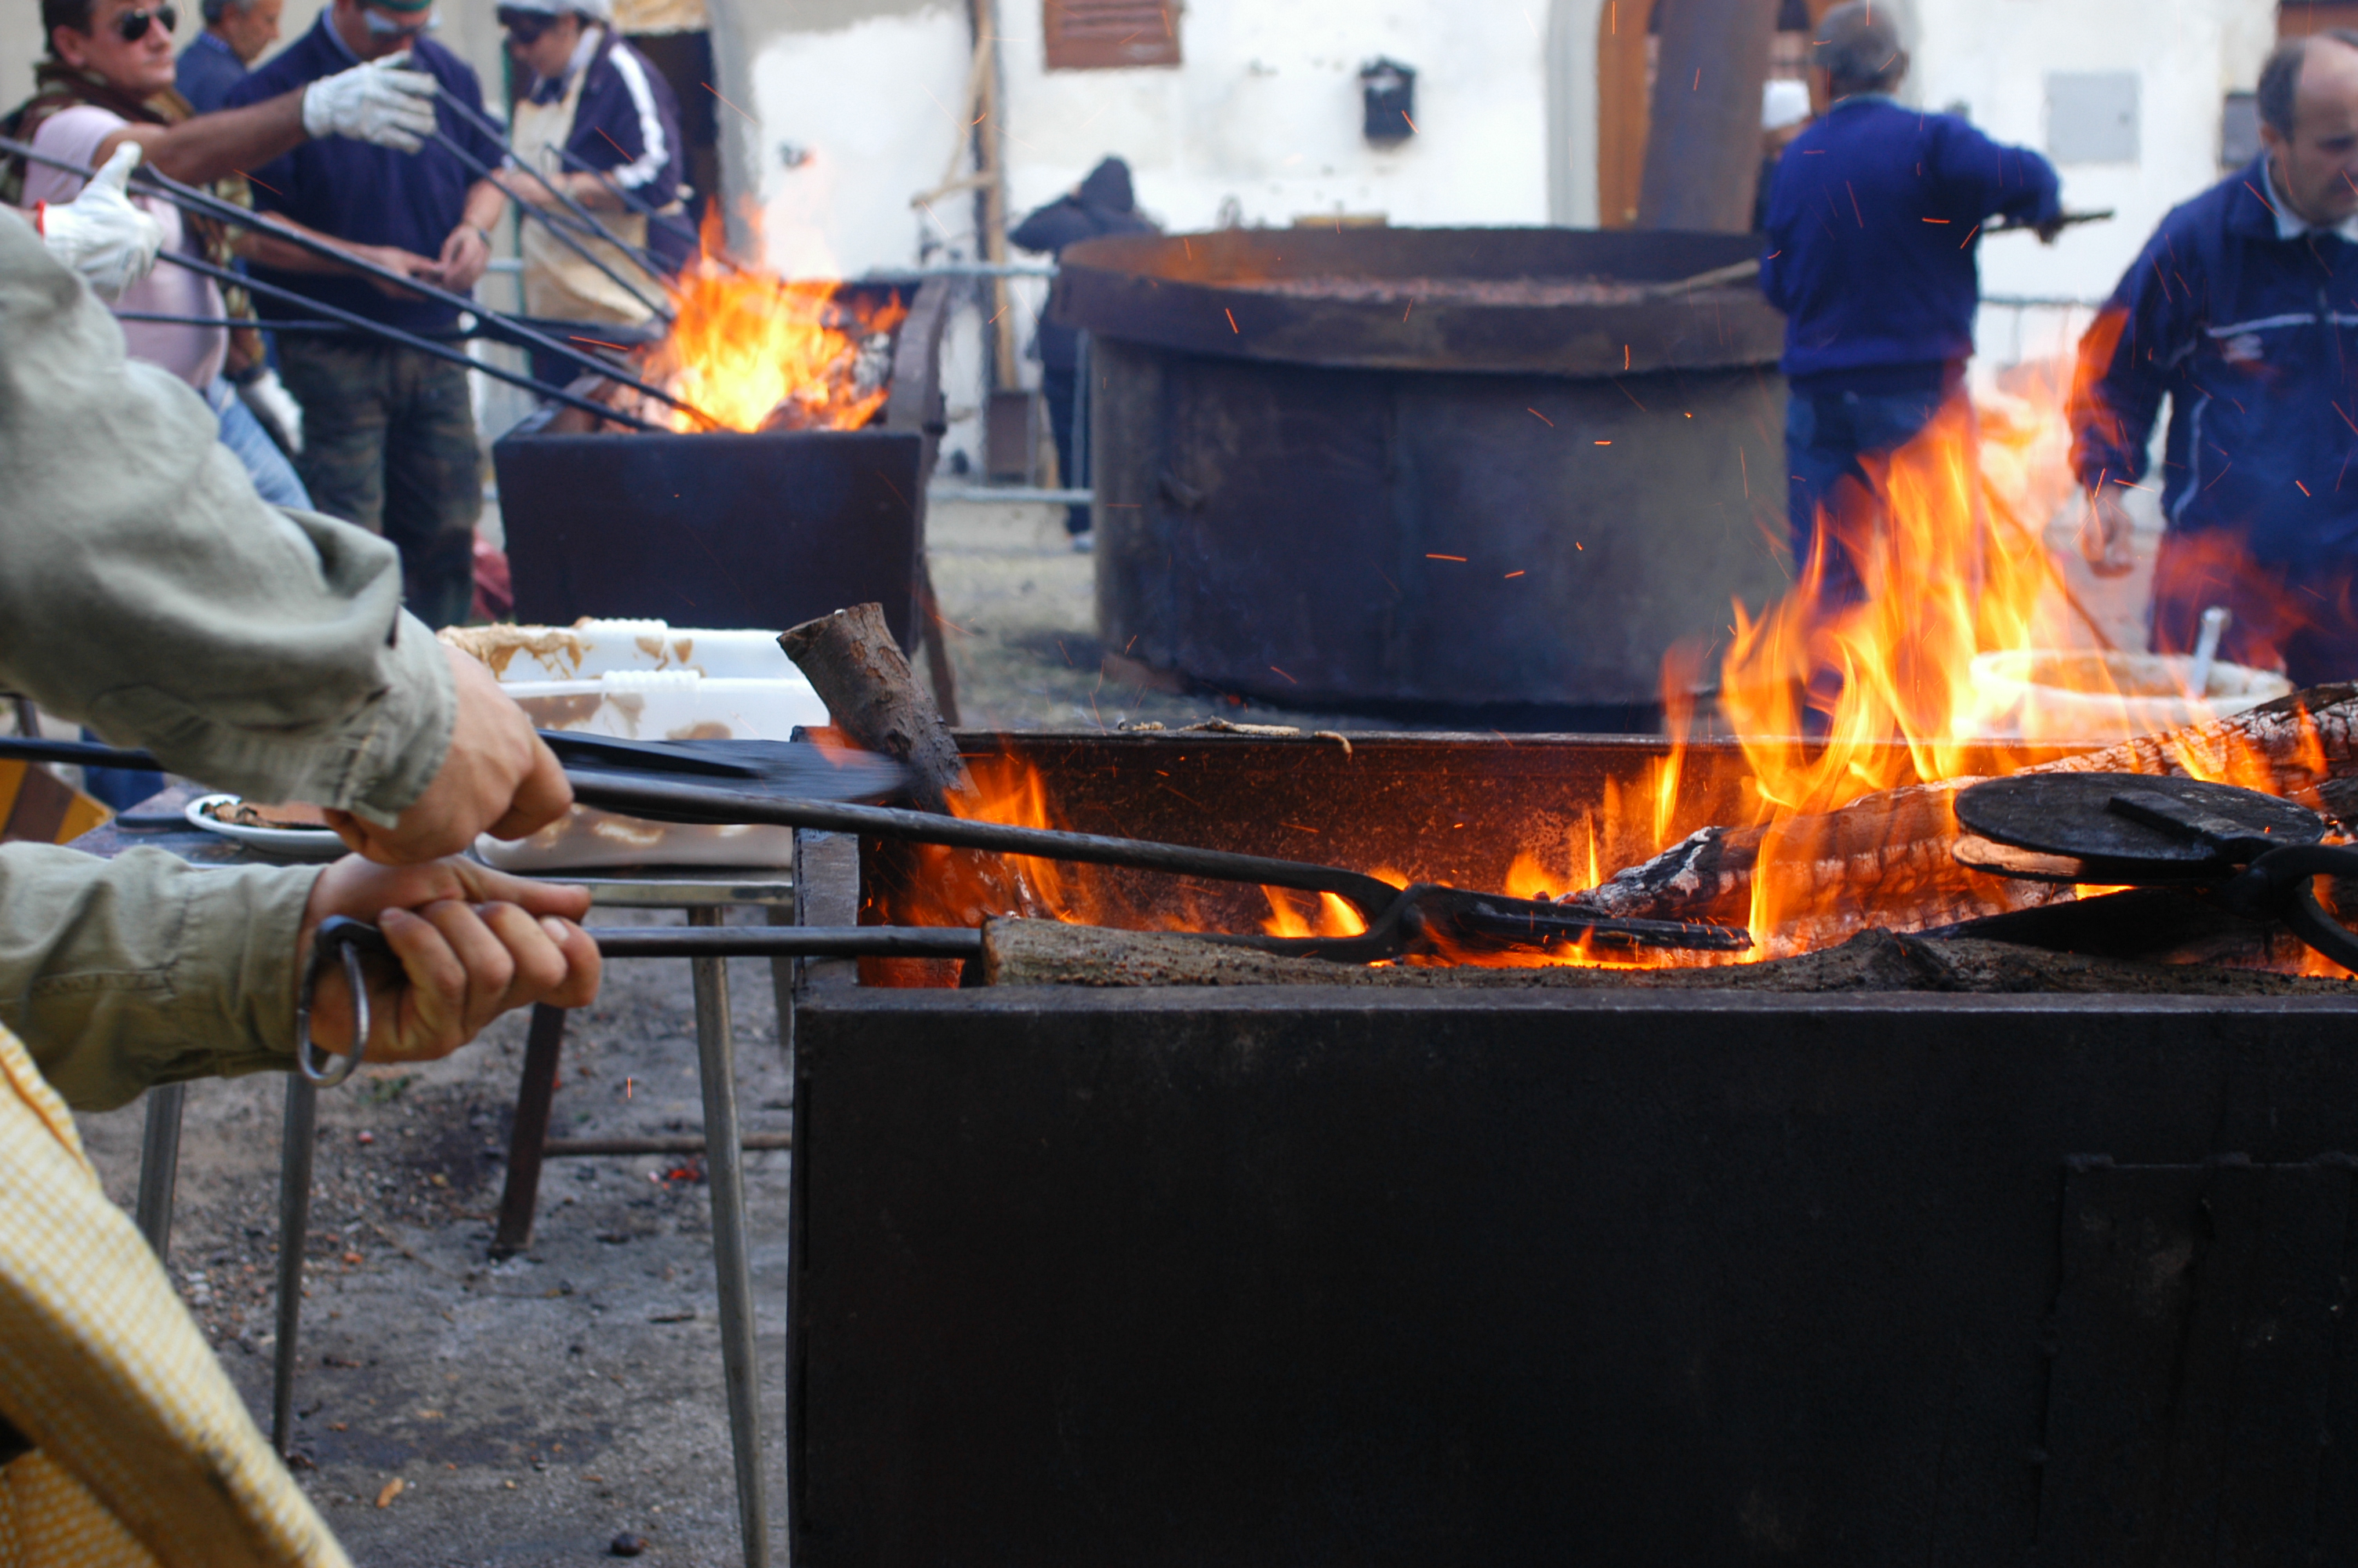
<svg viewBox="0 0 2358 1568"><path fill-rule="evenodd" d="M2358 556L2358 245L2283 238L2268 160L2169 212L2080 340L2080 483L2143 479L2162 394L2162 514L2268 564Z"/></svg>

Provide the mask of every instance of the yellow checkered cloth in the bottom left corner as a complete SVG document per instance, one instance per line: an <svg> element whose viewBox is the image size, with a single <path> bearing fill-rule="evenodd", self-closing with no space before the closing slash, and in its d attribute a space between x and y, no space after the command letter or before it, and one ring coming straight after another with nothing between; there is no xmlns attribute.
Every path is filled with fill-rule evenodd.
<svg viewBox="0 0 2358 1568"><path fill-rule="evenodd" d="M7 1028L0 1415L0 1568L347 1563Z"/></svg>

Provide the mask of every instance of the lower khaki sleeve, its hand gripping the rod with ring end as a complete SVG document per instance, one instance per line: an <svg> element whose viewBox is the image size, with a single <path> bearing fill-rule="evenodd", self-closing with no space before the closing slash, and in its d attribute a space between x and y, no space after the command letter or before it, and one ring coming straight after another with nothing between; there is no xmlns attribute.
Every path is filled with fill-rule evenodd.
<svg viewBox="0 0 2358 1568"><path fill-rule="evenodd" d="M0 1023L75 1111L295 1061L295 938L316 868L200 870L0 846Z"/></svg>

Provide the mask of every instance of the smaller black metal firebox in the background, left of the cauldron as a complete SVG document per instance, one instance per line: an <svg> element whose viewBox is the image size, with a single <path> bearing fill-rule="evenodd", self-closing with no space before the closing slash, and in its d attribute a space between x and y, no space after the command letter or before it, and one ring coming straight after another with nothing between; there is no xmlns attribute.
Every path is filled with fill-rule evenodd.
<svg viewBox="0 0 2358 1568"><path fill-rule="evenodd" d="M500 436L490 455L516 618L785 627L875 601L915 648L948 288L847 292L915 295L891 396L868 429L590 434L582 415L549 406Z"/></svg>

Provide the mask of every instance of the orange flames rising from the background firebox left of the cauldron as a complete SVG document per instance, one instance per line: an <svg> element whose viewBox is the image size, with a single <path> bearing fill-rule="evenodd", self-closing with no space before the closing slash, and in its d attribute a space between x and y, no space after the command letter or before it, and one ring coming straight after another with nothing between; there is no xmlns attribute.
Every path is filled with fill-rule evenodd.
<svg viewBox="0 0 2358 1568"><path fill-rule="evenodd" d="M703 255L672 290L677 321L648 361L648 380L724 429L858 429L891 396L891 332L908 316L898 295L868 304L835 278L776 278L722 259L719 219ZM705 429L677 408L674 429Z"/></svg>

